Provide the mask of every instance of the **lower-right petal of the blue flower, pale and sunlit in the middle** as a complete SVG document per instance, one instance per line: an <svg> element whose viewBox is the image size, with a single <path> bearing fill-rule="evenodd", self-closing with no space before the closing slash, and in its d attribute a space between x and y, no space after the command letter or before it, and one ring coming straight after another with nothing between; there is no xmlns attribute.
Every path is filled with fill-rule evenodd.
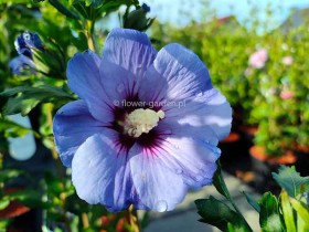
<svg viewBox="0 0 309 232"><path fill-rule="evenodd" d="M157 129L166 134L156 155L180 175L189 188L211 184L221 154L212 129L178 124L161 124Z"/></svg>

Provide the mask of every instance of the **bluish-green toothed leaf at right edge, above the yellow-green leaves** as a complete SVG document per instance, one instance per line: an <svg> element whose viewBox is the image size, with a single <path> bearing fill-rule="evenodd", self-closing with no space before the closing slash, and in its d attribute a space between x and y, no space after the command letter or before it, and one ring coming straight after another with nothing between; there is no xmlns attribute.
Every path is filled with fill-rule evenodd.
<svg viewBox="0 0 309 232"><path fill-rule="evenodd" d="M274 173L274 179L285 189L290 197L296 198L309 190L309 177L300 177L295 167L280 166L279 172Z"/></svg>

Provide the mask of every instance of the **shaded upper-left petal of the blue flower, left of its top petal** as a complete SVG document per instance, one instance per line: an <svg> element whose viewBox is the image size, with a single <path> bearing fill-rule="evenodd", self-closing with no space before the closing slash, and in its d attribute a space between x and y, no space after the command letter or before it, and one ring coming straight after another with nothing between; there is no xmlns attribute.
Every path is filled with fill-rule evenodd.
<svg viewBox="0 0 309 232"><path fill-rule="evenodd" d="M66 75L70 88L84 99L90 114L98 120L109 120L113 102L102 86L99 75L99 56L87 50L76 53L68 61Z"/></svg>

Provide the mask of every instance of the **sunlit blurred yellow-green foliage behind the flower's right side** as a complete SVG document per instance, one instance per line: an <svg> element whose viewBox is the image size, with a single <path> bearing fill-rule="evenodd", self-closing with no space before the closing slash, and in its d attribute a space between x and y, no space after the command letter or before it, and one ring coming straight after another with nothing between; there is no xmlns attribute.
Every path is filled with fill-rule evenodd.
<svg viewBox="0 0 309 232"><path fill-rule="evenodd" d="M271 17L268 12L269 21ZM151 34L160 40L158 48L179 42L205 62L213 85L232 104L234 129L257 127L255 143L273 156L308 149L309 10L292 11L280 27L265 33L259 30L262 22L253 24L245 28L233 15L183 28L156 21ZM249 60L259 50L266 51L267 59L262 67L254 67Z"/></svg>

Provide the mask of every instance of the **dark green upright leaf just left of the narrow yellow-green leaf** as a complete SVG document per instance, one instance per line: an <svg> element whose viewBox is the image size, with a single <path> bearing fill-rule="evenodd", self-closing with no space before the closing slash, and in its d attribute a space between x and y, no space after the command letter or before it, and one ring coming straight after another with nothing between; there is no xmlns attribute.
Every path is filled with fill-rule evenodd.
<svg viewBox="0 0 309 232"><path fill-rule="evenodd" d="M265 192L258 202L260 207L259 224L263 232L284 231L279 215L277 198L270 192Z"/></svg>

